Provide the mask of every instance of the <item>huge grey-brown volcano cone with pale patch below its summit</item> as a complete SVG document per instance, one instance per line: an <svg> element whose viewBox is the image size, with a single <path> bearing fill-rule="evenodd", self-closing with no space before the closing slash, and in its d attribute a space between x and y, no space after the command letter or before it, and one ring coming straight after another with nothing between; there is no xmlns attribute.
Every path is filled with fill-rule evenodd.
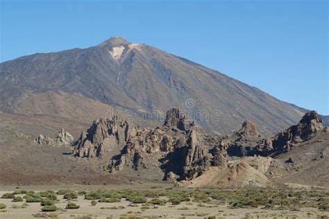
<svg viewBox="0 0 329 219"><path fill-rule="evenodd" d="M82 109L83 104L63 98L65 104L56 105L55 94L96 100L119 112L180 107L219 134L236 130L248 119L269 135L305 113L218 71L121 37L87 49L37 53L0 64L1 111L48 117L65 112L65 118L76 119L70 109ZM87 112L78 115L91 117Z"/></svg>

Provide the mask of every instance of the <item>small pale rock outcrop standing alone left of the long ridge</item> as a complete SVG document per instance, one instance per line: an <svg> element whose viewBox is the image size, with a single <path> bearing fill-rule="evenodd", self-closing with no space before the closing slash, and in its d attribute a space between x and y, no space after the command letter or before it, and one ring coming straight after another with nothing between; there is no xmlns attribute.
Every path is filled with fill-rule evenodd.
<svg viewBox="0 0 329 219"><path fill-rule="evenodd" d="M69 132L65 132L65 130L62 128L58 132L58 135L55 138L51 138L48 136L43 136L40 134L36 139L35 142L42 144L42 145L49 145L49 146L70 146L71 143L74 141L73 137Z"/></svg>

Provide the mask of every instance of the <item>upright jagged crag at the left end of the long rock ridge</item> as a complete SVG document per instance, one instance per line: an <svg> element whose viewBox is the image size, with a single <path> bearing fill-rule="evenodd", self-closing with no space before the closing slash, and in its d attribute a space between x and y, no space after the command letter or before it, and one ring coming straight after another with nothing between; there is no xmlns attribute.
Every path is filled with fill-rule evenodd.
<svg viewBox="0 0 329 219"><path fill-rule="evenodd" d="M122 148L128 142L127 121L113 116L112 119L94 121L87 132L82 132L75 143L73 155L76 157L110 156L113 148Z"/></svg>

